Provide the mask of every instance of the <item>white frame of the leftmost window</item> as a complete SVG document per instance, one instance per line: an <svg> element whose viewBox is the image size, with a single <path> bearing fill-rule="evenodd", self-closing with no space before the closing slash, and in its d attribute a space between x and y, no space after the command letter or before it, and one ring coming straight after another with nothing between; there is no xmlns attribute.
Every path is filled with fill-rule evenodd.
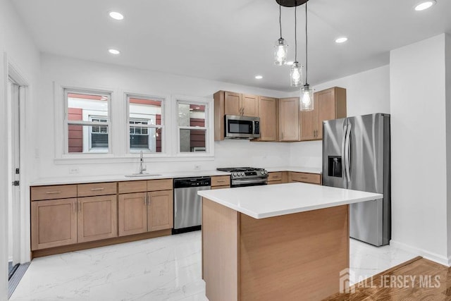
<svg viewBox="0 0 451 301"><path fill-rule="evenodd" d="M95 155L95 156L105 156L105 155L112 155L112 117L111 117L111 105L112 105L112 98L113 98L113 91L108 90L98 90L98 89L90 89L90 88L74 88L74 87L61 87L63 92L63 103L64 103L64 116L63 116L63 139L64 139L64 147L63 152L61 153L61 157L89 157L89 155ZM89 94L89 95L96 95L101 97L107 97L106 102L108 105L108 111L106 115L107 122L94 122L94 121L69 121L68 120L68 94ZM105 117L100 116L99 117ZM99 150L92 150L91 149L91 137L89 135L88 141L89 145L87 146L88 152L69 152L69 135L68 135L68 125L82 125L82 126L92 126L92 125L106 125L108 128L108 149L107 152L99 151ZM90 134L90 131L89 131Z"/></svg>

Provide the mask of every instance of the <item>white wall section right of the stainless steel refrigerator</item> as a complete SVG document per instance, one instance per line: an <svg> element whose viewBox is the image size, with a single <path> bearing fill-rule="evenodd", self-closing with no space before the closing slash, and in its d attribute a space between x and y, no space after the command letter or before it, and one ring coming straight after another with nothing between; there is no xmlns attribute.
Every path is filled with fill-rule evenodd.
<svg viewBox="0 0 451 301"><path fill-rule="evenodd" d="M451 135L446 132L450 122L446 39L447 35L438 35L390 51L392 244L443 264L448 264L447 177L451 176L446 148Z"/></svg>

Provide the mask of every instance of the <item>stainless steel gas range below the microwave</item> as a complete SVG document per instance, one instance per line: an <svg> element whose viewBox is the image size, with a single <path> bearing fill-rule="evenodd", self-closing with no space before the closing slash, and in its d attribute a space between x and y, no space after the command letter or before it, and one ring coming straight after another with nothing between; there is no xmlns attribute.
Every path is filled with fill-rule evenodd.
<svg viewBox="0 0 451 301"><path fill-rule="evenodd" d="M230 167L216 168L230 173L230 187L245 187L268 184L268 171L264 168Z"/></svg>

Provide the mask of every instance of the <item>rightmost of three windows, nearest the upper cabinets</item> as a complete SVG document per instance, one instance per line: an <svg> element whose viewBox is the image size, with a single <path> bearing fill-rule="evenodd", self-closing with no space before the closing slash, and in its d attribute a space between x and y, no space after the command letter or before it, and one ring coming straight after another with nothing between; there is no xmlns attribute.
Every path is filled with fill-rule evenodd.
<svg viewBox="0 0 451 301"><path fill-rule="evenodd" d="M209 152L208 104L204 102L177 102L178 152Z"/></svg>

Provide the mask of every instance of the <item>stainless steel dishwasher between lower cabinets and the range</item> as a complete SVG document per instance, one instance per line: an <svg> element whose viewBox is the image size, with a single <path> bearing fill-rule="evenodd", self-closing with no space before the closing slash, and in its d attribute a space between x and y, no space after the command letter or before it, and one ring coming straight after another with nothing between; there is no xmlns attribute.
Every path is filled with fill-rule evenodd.
<svg viewBox="0 0 451 301"><path fill-rule="evenodd" d="M210 177L174 179L173 234L201 229L202 197L197 192L210 189Z"/></svg>

